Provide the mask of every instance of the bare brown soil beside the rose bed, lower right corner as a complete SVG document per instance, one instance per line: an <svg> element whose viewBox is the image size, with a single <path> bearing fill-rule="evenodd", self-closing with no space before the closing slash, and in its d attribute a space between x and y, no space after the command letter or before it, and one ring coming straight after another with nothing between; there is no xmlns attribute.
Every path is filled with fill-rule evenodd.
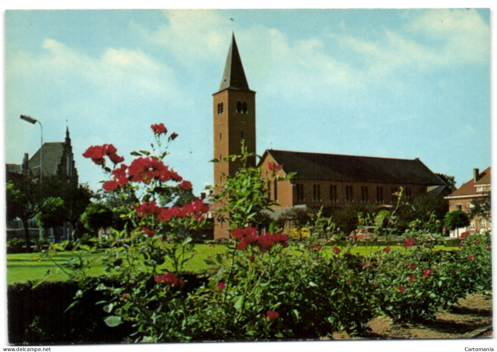
<svg viewBox="0 0 497 352"><path fill-rule="evenodd" d="M395 324L390 318L375 318L368 333L349 336L334 333L334 340L456 339L492 338L492 295L472 294L458 306L440 310L434 320L416 324Z"/></svg>

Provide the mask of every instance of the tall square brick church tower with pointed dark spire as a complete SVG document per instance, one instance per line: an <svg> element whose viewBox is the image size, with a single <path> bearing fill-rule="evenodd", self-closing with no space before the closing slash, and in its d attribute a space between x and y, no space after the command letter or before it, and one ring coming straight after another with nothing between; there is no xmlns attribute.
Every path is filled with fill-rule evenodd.
<svg viewBox="0 0 497 352"><path fill-rule="evenodd" d="M255 153L255 91L248 88L235 34L226 58L219 90L213 94L214 159L239 155L242 140L247 151ZM255 157L248 166L255 167ZM214 163L214 184L224 181L224 175L235 176L239 165L235 162ZM214 238L228 237L228 225L215 222Z"/></svg>

